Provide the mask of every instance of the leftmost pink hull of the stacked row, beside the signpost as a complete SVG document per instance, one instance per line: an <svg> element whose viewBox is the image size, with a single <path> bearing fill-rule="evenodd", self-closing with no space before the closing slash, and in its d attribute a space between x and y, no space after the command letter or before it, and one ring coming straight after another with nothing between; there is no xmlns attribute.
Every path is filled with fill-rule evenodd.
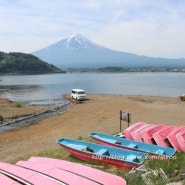
<svg viewBox="0 0 185 185"><path fill-rule="evenodd" d="M127 139L132 139L133 140L133 137L132 137L132 133L135 132L136 130L144 127L148 125L148 123L144 123L144 122L138 122L138 123L135 123L133 125L131 125L130 127L126 128L124 130L124 135Z"/></svg>

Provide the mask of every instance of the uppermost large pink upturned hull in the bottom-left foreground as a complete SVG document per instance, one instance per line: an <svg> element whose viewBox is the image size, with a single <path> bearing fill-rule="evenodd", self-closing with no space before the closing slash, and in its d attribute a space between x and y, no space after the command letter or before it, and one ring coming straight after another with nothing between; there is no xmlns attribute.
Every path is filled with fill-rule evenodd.
<svg viewBox="0 0 185 185"><path fill-rule="evenodd" d="M19 161L16 165L24 166L27 168L31 168L34 170L39 170L42 172L47 172L50 169L58 168L60 170L65 170L67 172L75 174L76 176L80 176L82 178L86 178L91 184L93 182L95 184L104 184L104 185L126 185L126 181L116 175L109 174L89 166L72 163L69 161L59 160L59 159L51 159L45 157L31 157L28 161ZM60 178L63 176L60 175ZM73 184L87 184L87 183L80 183L79 181L74 181Z"/></svg>

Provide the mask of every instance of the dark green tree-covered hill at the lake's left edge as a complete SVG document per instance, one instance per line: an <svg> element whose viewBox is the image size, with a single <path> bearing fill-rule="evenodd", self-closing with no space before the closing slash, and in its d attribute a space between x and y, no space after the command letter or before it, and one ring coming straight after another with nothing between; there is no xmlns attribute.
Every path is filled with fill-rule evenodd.
<svg viewBox="0 0 185 185"><path fill-rule="evenodd" d="M0 52L0 74L43 74L61 72L59 68L31 54Z"/></svg>

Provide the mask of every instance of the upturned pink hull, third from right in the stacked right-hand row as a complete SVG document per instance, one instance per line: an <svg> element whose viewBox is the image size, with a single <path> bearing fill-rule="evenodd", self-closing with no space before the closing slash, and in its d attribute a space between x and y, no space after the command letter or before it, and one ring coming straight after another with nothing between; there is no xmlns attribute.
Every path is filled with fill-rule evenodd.
<svg viewBox="0 0 185 185"><path fill-rule="evenodd" d="M174 126L165 126L164 128L155 132L153 134L155 142L160 146L171 147L172 145L167 137L170 134L170 132L172 132L175 128L176 127Z"/></svg>

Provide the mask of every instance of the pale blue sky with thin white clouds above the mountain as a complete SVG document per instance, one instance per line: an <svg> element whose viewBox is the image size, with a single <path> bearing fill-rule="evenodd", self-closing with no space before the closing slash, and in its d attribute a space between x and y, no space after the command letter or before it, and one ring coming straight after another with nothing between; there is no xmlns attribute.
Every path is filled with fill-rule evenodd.
<svg viewBox="0 0 185 185"><path fill-rule="evenodd" d="M0 0L0 51L30 53L74 33L113 50L185 58L185 1Z"/></svg>

